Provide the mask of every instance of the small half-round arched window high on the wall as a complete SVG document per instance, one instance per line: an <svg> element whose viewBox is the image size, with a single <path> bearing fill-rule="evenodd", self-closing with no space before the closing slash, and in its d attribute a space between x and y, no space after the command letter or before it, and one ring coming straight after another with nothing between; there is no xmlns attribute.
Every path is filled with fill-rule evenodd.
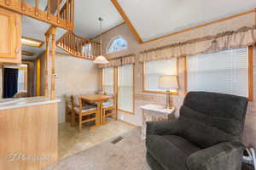
<svg viewBox="0 0 256 170"><path fill-rule="evenodd" d="M108 48L108 54L121 51L127 47L128 43L126 42L125 38L117 37L110 43Z"/></svg>

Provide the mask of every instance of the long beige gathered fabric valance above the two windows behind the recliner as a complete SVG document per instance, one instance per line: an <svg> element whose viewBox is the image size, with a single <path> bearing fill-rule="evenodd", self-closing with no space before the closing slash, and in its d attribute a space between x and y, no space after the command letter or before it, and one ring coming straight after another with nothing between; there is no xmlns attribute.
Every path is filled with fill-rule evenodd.
<svg viewBox="0 0 256 170"><path fill-rule="evenodd" d="M241 27L237 31L225 31L215 36L195 38L160 48L143 51L139 61L171 59L185 55L207 54L231 48L246 48L256 43L256 26Z"/></svg>

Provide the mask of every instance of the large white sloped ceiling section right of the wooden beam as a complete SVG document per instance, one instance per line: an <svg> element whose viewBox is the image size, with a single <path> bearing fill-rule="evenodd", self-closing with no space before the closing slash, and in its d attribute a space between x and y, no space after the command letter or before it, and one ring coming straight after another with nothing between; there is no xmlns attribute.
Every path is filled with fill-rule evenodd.
<svg viewBox="0 0 256 170"><path fill-rule="evenodd" d="M256 8L255 0L117 0L146 41Z"/></svg>

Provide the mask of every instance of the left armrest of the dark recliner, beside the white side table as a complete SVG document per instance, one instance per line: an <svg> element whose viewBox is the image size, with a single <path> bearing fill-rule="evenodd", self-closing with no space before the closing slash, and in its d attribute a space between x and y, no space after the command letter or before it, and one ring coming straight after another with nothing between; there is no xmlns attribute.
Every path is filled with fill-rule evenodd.
<svg viewBox="0 0 256 170"><path fill-rule="evenodd" d="M146 122L147 124L147 132L146 135L150 134L159 134L159 135L167 135L167 134L177 134L179 131L179 125L176 120L168 121L168 122Z"/></svg>

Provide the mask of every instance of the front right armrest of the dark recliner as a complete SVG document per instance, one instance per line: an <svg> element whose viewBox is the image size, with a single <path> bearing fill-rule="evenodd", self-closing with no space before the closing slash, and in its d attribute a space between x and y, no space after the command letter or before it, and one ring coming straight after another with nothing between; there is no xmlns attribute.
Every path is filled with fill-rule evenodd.
<svg viewBox="0 0 256 170"><path fill-rule="evenodd" d="M189 170L241 170L245 147L240 142L224 142L189 156Z"/></svg>

